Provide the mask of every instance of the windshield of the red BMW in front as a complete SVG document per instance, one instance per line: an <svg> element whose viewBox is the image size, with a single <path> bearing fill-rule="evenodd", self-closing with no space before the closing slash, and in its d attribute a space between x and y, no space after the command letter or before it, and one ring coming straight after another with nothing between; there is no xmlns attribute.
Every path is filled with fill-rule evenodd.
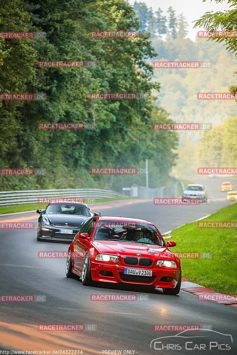
<svg viewBox="0 0 237 355"><path fill-rule="evenodd" d="M99 221L93 239L165 246L155 226L123 221Z"/></svg>

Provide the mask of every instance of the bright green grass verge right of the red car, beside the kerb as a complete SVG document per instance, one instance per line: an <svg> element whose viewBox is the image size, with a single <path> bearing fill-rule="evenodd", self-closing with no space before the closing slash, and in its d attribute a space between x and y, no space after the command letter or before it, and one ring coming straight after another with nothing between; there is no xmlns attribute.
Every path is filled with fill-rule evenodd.
<svg viewBox="0 0 237 355"><path fill-rule="evenodd" d="M205 221L236 221L237 203L220 209ZM197 222L175 229L173 252L211 252L211 259L181 259L182 277L224 294L237 294L237 231L235 228L198 228Z"/></svg>

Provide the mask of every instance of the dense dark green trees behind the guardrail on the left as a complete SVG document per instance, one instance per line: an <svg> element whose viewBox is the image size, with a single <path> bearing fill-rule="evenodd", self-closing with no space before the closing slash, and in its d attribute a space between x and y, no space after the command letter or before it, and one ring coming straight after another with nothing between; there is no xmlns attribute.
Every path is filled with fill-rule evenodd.
<svg viewBox="0 0 237 355"><path fill-rule="evenodd" d="M1 176L1 190L98 187L121 192L145 174L95 176L91 167L144 168L164 184L175 163L177 135L153 131L171 121L155 105L160 85L148 38L92 38L95 30L139 30L125 0L0 1L0 32L45 32L47 38L0 38L1 93L44 93L44 101L0 101L1 168L44 168L45 176ZM40 60L96 61L93 68L39 69ZM141 92L143 100L91 100L92 92ZM152 96L153 95L153 96ZM94 130L38 130L39 122L94 122Z"/></svg>

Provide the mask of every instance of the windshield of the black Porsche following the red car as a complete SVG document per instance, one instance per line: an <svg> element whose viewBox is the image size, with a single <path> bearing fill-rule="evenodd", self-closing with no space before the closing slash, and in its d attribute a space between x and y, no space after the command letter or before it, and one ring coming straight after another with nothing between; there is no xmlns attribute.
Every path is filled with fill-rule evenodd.
<svg viewBox="0 0 237 355"><path fill-rule="evenodd" d="M49 204L45 211L46 214L71 214L77 216L89 216L88 208L81 204Z"/></svg>

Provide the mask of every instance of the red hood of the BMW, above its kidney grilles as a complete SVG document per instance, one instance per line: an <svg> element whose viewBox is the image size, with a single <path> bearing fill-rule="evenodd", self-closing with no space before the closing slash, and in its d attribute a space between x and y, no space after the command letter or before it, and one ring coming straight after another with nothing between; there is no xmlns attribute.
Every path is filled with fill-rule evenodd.
<svg viewBox="0 0 237 355"><path fill-rule="evenodd" d="M141 254L141 257L150 258L152 260L157 260L158 257L174 260L174 254L172 251L168 250L166 247L158 245L118 242L115 240L93 240L92 244L101 254L119 255L122 257Z"/></svg>

